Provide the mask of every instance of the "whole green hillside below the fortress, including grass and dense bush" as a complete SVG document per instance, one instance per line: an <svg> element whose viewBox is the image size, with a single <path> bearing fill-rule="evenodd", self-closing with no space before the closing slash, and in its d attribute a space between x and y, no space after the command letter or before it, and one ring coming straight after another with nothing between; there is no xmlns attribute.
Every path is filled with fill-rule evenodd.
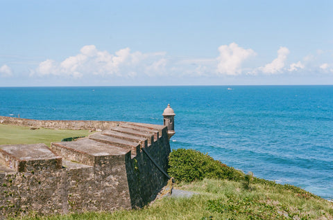
<svg viewBox="0 0 333 220"><path fill-rule="evenodd" d="M169 165L175 187L196 192L194 196L164 197L140 210L25 219L333 219L332 202L293 185L244 174L207 154L173 150Z"/></svg>

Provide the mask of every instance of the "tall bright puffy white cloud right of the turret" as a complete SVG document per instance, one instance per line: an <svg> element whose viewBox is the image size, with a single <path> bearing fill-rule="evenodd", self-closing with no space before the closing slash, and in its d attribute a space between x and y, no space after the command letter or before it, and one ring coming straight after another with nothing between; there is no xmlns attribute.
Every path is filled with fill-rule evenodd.
<svg viewBox="0 0 333 220"><path fill-rule="evenodd" d="M241 48L235 43L232 43L229 46L220 46L219 52L220 55L217 57L219 62L217 73L225 75L241 74L241 64L248 59L248 57L256 55L255 51L252 49Z"/></svg>

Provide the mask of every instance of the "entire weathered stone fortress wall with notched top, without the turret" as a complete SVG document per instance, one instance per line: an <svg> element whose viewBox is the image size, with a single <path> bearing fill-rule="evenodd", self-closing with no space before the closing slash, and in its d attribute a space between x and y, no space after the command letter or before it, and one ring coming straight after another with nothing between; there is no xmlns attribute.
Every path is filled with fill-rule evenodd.
<svg viewBox="0 0 333 220"><path fill-rule="evenodd" d="M72 142L0 145L0 219L29 212L57 214L142 207L167 182L165 125L107 121L29 120L11 125L101 129Z"/></svg>

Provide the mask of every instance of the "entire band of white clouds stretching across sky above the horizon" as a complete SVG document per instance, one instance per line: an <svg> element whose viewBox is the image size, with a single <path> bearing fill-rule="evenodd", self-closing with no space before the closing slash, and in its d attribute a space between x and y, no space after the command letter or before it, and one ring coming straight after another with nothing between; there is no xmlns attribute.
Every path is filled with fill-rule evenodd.
<svg viewBox="0 0 333 220"><path fill-rule="evenodd" d="M241 75L277 75L300 71L333 72L332 64L311 64L314 55L307 55L298 62L288 62L289 48L280 46L277 57L264 65L246 66L248 60L257 55L251 48L242 48L236 43L218 47L219 55L203 57L169 57L165 52L142 53L122 48L114 53L99 51L94 45L83 46L77 55L69 56L61 62L46 59L31 71L31 77L71 77L79 79L87 76L118 77L139 79L142 77L240 77ZM12 75L12 70L3 65L1 76ZM146 79L146 78L145 78Z"/></svg>

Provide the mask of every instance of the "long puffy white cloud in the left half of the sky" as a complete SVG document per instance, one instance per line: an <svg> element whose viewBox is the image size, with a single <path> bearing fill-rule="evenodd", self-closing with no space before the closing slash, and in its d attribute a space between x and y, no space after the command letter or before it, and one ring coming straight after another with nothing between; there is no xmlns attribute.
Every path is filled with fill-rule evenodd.
<svg viewBox="0 0 333 220"><path fill-rule="evenodd" d="M58 63L52 59L41 62L31 76L67 75L74 78L84 75L116 75L135 77L137 71L151 73L164 69L167 59L165 53L131 52L123 48L114 54L99 51L94 45L83 46L76 56L68 57Z"/></svg>

